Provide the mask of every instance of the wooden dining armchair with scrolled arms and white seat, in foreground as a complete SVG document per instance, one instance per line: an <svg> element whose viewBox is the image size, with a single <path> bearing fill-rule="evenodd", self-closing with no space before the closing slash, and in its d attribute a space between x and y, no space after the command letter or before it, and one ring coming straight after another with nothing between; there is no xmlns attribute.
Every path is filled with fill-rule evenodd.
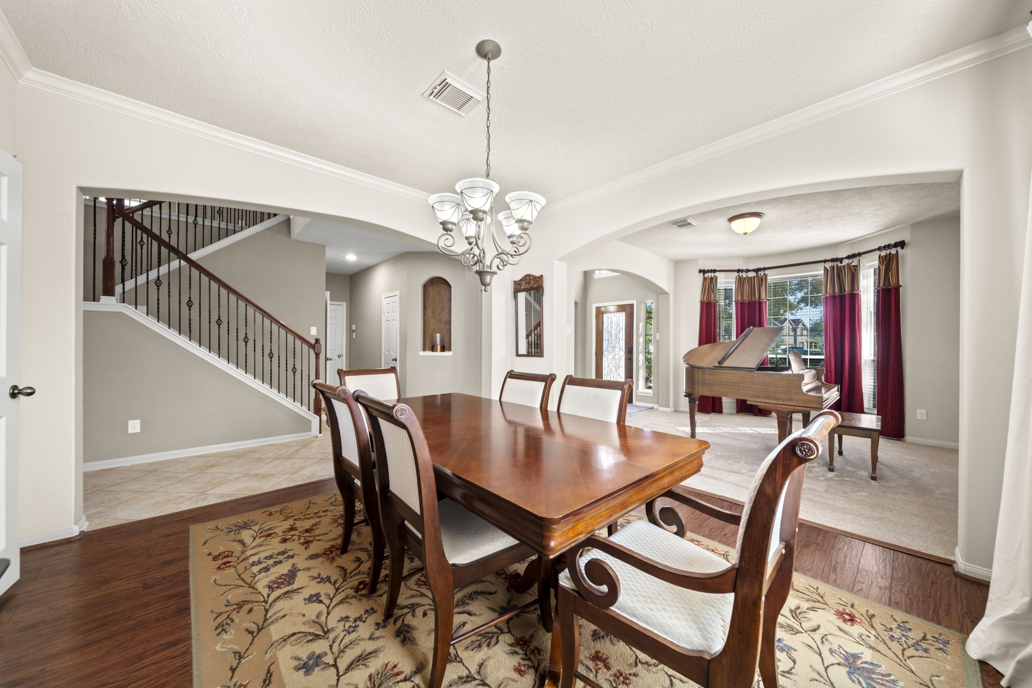
<svg viewBox="0 0 1032 688"><path fill-rule="evenodd" d="M741 516L680 491L663 495L739 527L730 564L684 539L677 512L657 510L655 500L647 521L574 547L559 576L560 688L575 678L596 685L577 670L578 619L700 686L749 688L759 663L765 688L776 688L777 620L792 588L803 476L838 422L836 412L821 412L779 444L760 465Z"/></svg>

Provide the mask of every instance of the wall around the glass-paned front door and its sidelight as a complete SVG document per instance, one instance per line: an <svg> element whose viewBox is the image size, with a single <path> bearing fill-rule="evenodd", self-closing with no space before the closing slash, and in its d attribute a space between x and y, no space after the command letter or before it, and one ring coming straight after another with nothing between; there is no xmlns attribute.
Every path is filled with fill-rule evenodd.
<svg viewBox="0 0 1032 688"><path fill-rule="evenodd" d="M612 277L592 276L585 271L583 289L575 294L575 317L577 323L577 345L574 368L580 378L594 378L594 307L595 303L614 301L635 301L635 401L670 407L670 352L668 323L669 295L660 294L654 285L634 274L618 274ZM579 287L579 285L578 285ZM652 394L644 394L641 386L641 353L644 351L645 301L652 301L652 329L658 338L653 341L652 351Z"/></svg>

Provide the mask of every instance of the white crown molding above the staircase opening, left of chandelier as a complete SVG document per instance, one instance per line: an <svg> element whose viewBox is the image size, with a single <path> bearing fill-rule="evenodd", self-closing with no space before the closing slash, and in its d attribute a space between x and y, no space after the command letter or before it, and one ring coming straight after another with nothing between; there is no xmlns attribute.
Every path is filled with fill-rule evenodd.
<svg viewBox="0 0 1032 688"><path fill-rule="evenodd" d="M2 36L0 36L0 40L2 40ZM216 127L215 125L194 120L193 118L172 112L156 105L127 98L126 96L120 96L117 93L104 91L103 89L82 84L49 71L43 71L42 69L36 69L35 67L30 68L22 76L21 83L31 88L73 98L92 105L98 105L122 114L153 122L163 127L176 129L218 143L225 143L226 145L304 167L322 174L336 176L364 187L386 191L421 203L425 203L426 199L429 198L428 193L413 189L412 187L374 176L373 174L366 174L365 172L298 153L282 145L276 145L275 143L238 134L222 127Z"/></svg>

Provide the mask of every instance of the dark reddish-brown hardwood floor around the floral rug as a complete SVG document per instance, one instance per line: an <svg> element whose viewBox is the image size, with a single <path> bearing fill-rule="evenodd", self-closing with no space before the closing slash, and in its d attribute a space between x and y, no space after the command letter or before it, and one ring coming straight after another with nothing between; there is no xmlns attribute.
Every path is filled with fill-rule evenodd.
<svg viewBox="0 0 1032 688"><path fill-rule="evenodd" d="M187 527L334 490L323 480L26 548L22 580L0 598L0 683L190 686ZM734 546L733 526L682 515L692 532ZM946 564L807 524L798 543L796 567L805 576L964 633L981 617L988 588ZM986 686L1000 678L982 666Z"/></svg>

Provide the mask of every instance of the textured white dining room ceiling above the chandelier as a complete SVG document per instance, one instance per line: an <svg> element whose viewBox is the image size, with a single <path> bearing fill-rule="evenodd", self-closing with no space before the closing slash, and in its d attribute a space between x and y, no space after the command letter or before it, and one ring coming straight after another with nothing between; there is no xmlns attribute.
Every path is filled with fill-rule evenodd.
<svg viewBox="0 0 1032 688"><path fill-rule="evenodd" d="M423 191L555 201L1028 21L1024 0L0 0L33 66Z"/></svg>

